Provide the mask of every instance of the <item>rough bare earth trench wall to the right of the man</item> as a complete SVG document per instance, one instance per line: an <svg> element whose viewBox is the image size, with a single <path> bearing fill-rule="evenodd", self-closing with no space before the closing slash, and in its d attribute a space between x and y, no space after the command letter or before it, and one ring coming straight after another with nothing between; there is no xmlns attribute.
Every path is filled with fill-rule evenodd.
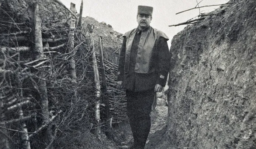
<svg viewBox="0 0 256 149"><path fill-rule="evenodd" d="M172 40L166 137L182 149L255 149L256 1L212 13Z"/></svg>

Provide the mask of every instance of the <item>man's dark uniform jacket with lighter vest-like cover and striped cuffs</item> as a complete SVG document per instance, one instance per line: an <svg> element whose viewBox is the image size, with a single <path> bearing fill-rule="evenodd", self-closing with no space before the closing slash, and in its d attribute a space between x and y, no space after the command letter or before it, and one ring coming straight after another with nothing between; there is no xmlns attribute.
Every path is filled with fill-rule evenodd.
<svg viewBox="0 0 256 149"><path fill-rule="evenodd" d="M118 81L124 88L145 91L156 84L165 86L171 58L165 33L149 26L143 31L135 28L123 38Z"/></svg>

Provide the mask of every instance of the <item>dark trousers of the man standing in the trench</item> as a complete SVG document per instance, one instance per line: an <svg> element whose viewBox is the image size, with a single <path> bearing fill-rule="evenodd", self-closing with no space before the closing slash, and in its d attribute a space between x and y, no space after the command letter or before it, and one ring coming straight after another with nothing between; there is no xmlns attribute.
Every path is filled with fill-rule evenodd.
<svg viewBox="0 0 256 149"><path fill-rule="evenodd" d="M154 91L153 89L142 92L126 91L126 97L134 148L144 149L151 127L150 113Z"/></svg>

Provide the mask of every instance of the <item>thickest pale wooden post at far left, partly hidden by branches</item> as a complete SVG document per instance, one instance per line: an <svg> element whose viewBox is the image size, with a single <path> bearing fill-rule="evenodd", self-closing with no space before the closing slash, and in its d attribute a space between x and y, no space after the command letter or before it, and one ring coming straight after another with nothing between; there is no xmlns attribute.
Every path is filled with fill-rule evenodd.
<svg viewBox="0 0 256 149"><path fill-rule="evenodd" d="M41 31L41 19L39 17L39 8L38 3L34 4L34 16L33 16L34 22L32 26L33 34L34 34L34 49L33 49L33 59L38 60L45 57L44 55L44 48L42 43L42 31ZM39 80L38 80L38 89L40 94L40 104L41 104L41 113L44 123L48 124L49 122L49 109L48 109L48 97L47 97L47 89L46 89L46 82L43 79L44 78L44 72L41 71L38 74ZM48 125L45 131L45 138L44 141L48 144L53 139L51 125ZM52 146L51 148L52 149Z"/></svg>

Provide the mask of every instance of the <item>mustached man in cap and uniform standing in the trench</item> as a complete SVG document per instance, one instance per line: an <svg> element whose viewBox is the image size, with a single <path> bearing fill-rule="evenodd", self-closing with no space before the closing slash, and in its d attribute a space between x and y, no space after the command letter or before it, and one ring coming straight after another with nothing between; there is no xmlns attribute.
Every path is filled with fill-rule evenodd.
<svg viewBox="0 0 256 149"><path fill-rule="evenodd" d="M153 7L138 6L138 27L122 36L117 88L126 89L127 115L134 138L131 149L144 149L154 95L165 86L170 68L168 37L149 25L152 12Z"/></svg>

